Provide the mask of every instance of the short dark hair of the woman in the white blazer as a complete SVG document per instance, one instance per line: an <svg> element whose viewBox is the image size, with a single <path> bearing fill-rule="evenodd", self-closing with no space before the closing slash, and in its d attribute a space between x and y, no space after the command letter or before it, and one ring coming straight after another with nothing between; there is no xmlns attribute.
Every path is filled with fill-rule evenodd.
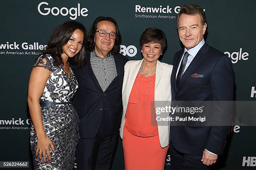
<svg viewBox="0 0 256 170"><path fill-rule="evenodd" d="M166 50L167 39L166 39L164 31L160 30L159 28L147 28L141 34L141 38L140 38L141 49L144 44L150 43L150 42L151 43L157 42L157 43L161 44L161 52L162 53Z"/></svg>

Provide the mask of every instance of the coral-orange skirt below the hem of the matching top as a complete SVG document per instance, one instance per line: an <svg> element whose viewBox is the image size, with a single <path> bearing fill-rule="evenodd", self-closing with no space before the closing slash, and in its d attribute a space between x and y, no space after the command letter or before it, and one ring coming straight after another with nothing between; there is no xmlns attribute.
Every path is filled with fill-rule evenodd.
<svg viewBox="0 0 256 170"><path fill-rule="evenodd" d="M123 131L125 170L164 170L169 145L161 148L159 135L139 137Z"/></svg>

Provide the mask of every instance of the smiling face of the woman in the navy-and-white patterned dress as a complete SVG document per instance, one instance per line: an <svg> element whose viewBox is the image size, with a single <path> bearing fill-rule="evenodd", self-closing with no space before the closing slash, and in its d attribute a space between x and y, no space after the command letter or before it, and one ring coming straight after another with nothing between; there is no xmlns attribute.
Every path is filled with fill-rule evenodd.
<svg viewBox="0 0 256 170"><path fill-rule="evenodd" d="M62 59L65 60L68 57L74 57L81 50L83 40L84 40L84 33L81 30L76 29L71 35L71 37L69 38L69 41L67 42L67 44L65 44L62 47L62 50L63 50L63 53L61 55Z"/></svg>

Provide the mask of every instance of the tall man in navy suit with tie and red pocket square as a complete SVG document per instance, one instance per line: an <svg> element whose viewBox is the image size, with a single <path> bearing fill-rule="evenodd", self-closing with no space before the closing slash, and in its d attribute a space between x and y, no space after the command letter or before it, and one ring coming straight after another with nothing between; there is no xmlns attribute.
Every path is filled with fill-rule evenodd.
<svg viewBox="0 0 256 170"><path fill-rule="evenodd" d="M207 45L203 38L206 27L205 12L201 7L193 4L181 7L177 28L184 49L174 55L171 77L174 102L233 100L231 61ZM223 110L217 112L226 114ZM223 153L227 134L228 126L171 126L172 170L210 169L209 165Z"/></svg>

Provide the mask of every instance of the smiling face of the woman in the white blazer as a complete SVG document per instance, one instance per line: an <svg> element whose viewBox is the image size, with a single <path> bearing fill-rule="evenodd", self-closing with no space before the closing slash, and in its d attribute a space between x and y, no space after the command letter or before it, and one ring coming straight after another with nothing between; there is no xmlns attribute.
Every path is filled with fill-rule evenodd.
<svg viewBox="0 0 256 170"><path fill-rule="evenodd" d="M143 58L146 62L157 62L161 55L161 44L158 42L143 44L141 49Z"/></svg>

